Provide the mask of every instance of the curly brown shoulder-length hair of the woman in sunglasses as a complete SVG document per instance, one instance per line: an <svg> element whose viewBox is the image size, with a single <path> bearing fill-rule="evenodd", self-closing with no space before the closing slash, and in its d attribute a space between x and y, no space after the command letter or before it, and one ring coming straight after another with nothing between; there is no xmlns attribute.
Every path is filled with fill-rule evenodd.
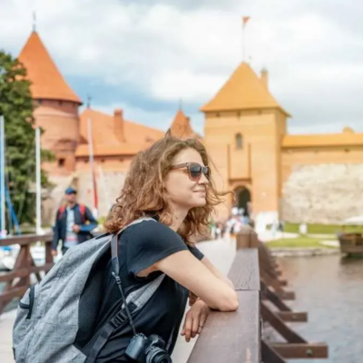
<svg viewBox="0 0 363 363"><path fill-rule="evenodd" d="M189 148L200 153L204 165L210 164L210 158L201 142L195 139L181 140L173 137L170 132L147 150L139 152L132 161L121 196L117 198L117 203L104 223L105 230L115 233L140 217L153 215L158 215L159 221L170 226L173 216L162 183L170 171L175 155ZM226 194L217 191L210 179L206 204L192 208L178 230L186 243L191 243L192 236L208 233L211 213L223 201L221 196Z"/></svg>

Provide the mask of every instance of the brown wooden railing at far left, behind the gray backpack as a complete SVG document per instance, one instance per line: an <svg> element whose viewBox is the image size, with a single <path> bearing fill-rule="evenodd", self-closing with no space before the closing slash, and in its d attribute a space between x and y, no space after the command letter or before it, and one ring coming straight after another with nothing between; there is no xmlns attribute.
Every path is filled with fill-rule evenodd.
<svg viewBox="0 0 363 363"><path fill-rule="evenodd" d="M54 265L52 257L52 234L44 236L25 235L0 239L0 246L19 245L20 250L15 260L14 269L0 275L0 282L5 282L5 288L0 292L0 314L5 306L14 298L21 298L31 284L31 275L41 280L40 272L47 272ZM44 242L44 265L36 266L30 253L31 245L35 242Z"/></svg>

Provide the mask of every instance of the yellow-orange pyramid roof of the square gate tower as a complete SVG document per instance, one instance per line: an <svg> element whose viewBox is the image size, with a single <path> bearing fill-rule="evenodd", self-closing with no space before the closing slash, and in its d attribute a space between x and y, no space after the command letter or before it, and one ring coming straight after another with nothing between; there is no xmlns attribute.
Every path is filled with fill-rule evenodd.
<svg viewBox="0 0 363 363"><path fill-rule="evenodd" d="M250 65L243 62L215 97L201 108L201 111L219 112L261 108L279 108L289 116L258 75L253 72Z"/></svg>

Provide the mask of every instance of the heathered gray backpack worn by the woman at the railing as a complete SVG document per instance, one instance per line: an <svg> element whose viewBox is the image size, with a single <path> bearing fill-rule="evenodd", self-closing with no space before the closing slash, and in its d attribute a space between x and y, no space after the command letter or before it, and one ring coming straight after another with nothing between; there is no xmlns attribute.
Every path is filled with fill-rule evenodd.
<svg viewBox="0 0 363 363"><path fill-rule="evenodd" d="M142 218L130 225L142 221L154 220ZM117 260L117 236L103 235L75 246L65 253L39 284L26 291L19 302L13 329L13 350L17 363L91 363L113 329L128 323L123 304L95 338L93 328L97 316L93 315L96 314L83 319L89 324L88 327L81 329L79 326L80 315L93 311L100 303L97 293L103 286L103 270L111 260L110 250L113 261ZM113 264L113 273L118 268L115 265L118 263ZM119 271L115 273L118 277ZM129 294L126 302L132 315L152 297L164 276L162 274ZM75 338L85 343L92 342L87 356L74 346Z"/></svg>

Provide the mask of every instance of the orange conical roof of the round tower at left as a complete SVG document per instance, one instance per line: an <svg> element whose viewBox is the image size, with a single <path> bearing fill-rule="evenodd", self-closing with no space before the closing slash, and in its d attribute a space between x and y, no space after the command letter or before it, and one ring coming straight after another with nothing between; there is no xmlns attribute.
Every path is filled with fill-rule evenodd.
<svg viewBox="0 0 363 363"><path fill-rule="evenodd" d="M27 78L32 82L34 99L73 101L82 103L54 64L41 38L30 34L18 60L25 65Z"/></svg>

